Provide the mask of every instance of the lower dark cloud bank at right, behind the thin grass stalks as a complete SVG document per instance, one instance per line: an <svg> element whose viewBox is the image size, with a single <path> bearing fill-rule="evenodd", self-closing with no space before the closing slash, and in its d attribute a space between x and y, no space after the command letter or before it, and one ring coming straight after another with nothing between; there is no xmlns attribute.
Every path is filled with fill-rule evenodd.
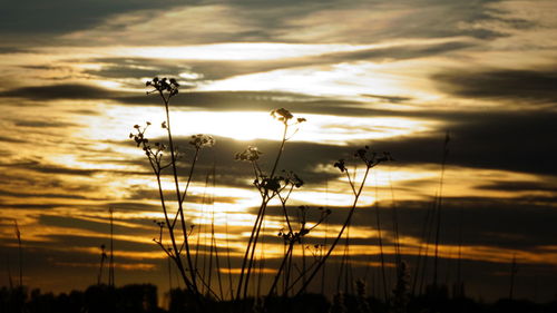
<svg viewBox="0 0 557 313"><path fill-rule="evenodd" d="M433 190L431 192L433 194ZM432 202L397 202L397 221L400 236L413 237L419 241L433 242L432 231L436 221L432 219ZM537 252L540 246L553 245L557 231L553 227L553 218L557 213L553 204L540 205L535 202L521 202L514 198L494 199L482 197L452 198L444 197L441 208L441 241L443 245L490 246L504 250L520 250ZM329 207L332 214L328 217L328 226L340 226L348 216L346 207ZM392 245L393 208L391 202L380 202L378 207L359 206L352 218L352 226L378 228L378 212L383 233L383 243ZM289 207L289 215L294 228L299 228L297 208ZM254 211L255 212L255 211ZM320 212L310 208L307 221L317 221ZM429 213L428 213L429 212ZM268 215L283 216L282 208L268 207ZM436 215L437 216L437 215ZM286 225L286 224L284 224ZM426 233L423 231L426 229ZM278 231L278 229L276 229ZM429 237L424 237L429 234ZM329 234L332 236L332 234ZM272 239L272 238L271 238ZM323 238L314 237L311 242L319 243ZM276 239L275 239L276 241ZM377 238L353 238L354 244L378 245Z"/></svg>

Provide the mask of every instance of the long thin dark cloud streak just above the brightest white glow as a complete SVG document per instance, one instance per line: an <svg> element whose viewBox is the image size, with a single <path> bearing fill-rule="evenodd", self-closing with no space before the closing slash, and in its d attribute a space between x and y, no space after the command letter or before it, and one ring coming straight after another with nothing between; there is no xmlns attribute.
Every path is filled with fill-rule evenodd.
<svg viewBox="0 0 557 313"><path fill-rule="evenodd" d="M22 87L0 92L0 97L18 97L30 100L85 99L114 100L126 105L148 105L157 102L154 97L139 92L114 91L89 85L50 85ZM400 102L407 97L373 95L367 97ZM271 111L278 107L297 108L300 113L331 114L331 115L385 115L400 116L405 113L394 113L364 108L359 101L315 97L304 94L281 91L184 91L173 98L173 106L190 107L203 110L263 110ZM90 114L86 111L85 114ZM32 126L31 121L17 121L20 126ZM38 126L38 125L37 125ZM53 125L52 125L53 126Z"/></svg>

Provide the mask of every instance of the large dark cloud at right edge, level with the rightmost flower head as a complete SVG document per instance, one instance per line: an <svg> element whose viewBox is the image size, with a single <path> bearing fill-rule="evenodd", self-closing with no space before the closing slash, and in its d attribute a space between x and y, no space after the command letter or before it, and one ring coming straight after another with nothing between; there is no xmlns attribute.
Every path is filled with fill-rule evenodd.
<svg viewBox="0 0 557 313"><path fill-rule="evenodd" d="M439 117L442 114L439 115ZM427 137L375 140L398 162L440 164L444 133L451 136L448 163L465 167L495 168L556 175L557 115L553 111L453 113L443 119L446 129Z"/></svg>

